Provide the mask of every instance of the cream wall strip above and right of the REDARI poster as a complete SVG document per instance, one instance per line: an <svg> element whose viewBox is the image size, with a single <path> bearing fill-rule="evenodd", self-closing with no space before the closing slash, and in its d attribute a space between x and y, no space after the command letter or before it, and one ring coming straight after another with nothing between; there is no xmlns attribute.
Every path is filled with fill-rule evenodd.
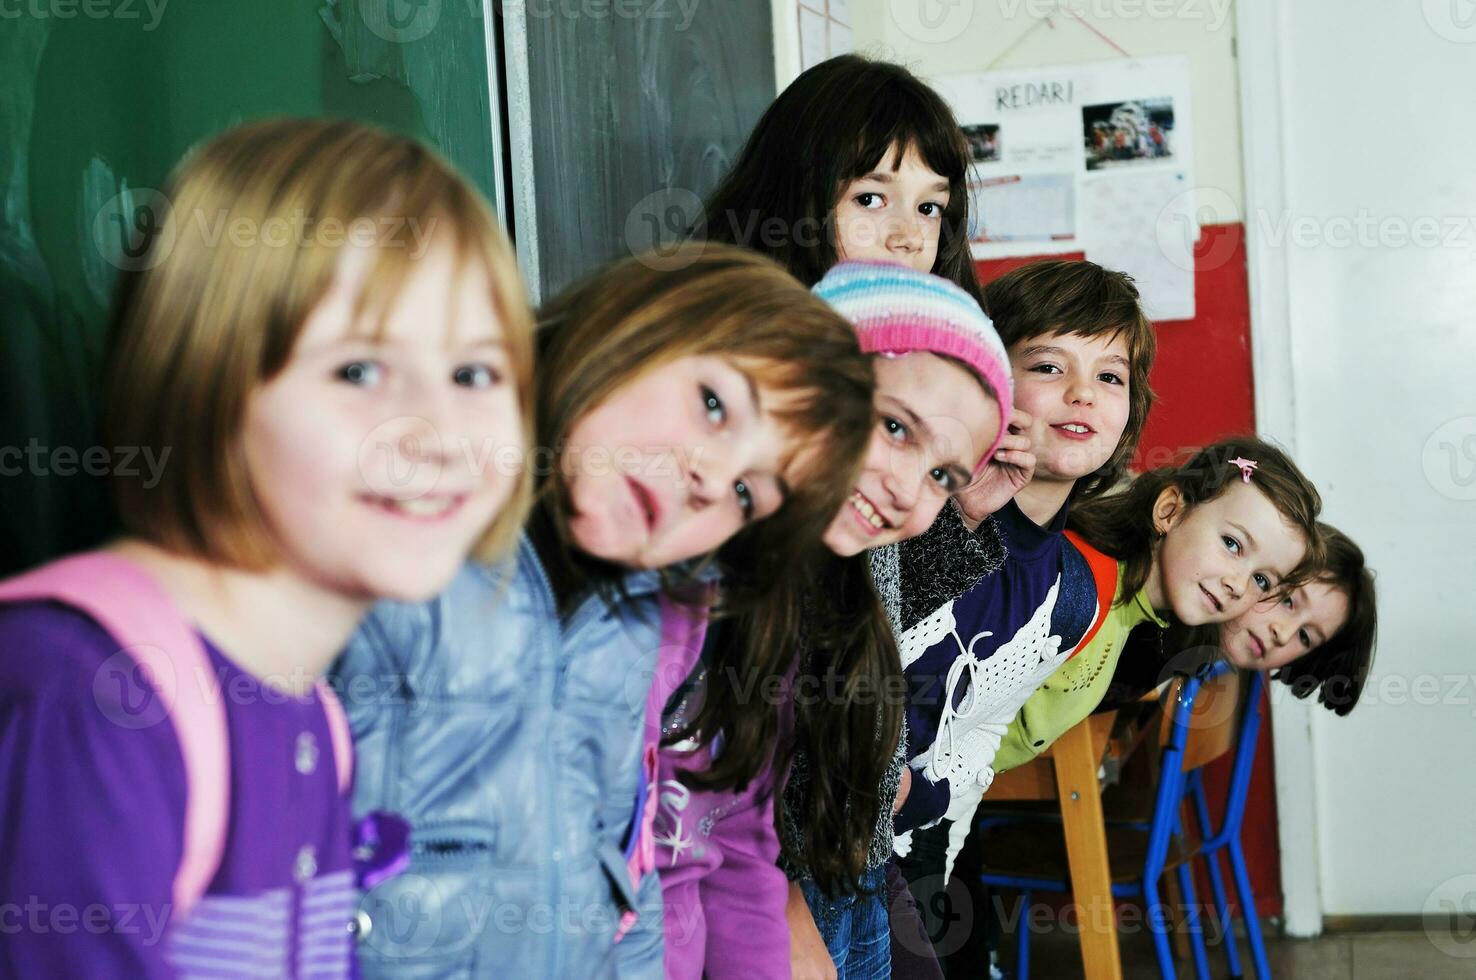
<svg viewBox="0 0 1476 980"><path fill-rule="evenodd" d="M1188 55L1196 183L1224 192L1200 195L1201 223L1240 220L1231 0L1072 0L1069 6L1134 58ZM858 50L902 62L924 78L1122 58L1066 13L1044 24L1054 0L850 0L850 7Z"/></svg>

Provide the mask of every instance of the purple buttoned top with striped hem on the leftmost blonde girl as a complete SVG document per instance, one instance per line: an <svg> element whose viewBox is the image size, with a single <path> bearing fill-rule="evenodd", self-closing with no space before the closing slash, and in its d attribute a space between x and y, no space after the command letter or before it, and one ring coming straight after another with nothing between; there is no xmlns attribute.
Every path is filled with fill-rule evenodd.
<svg viewBox="0 0 1476 980"><path fill-rule="evenodd" d="M350 974L350 810L323 704L204 645L226 704L229 828L176 921L186 782L162 705L86 614L0 605L0 976Z"/></svg>

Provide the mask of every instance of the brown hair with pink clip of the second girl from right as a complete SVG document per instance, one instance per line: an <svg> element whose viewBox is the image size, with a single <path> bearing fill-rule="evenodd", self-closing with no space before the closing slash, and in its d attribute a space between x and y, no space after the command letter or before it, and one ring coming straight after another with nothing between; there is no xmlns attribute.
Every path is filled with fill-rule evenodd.
<svg viewBox="0 0 1476 980"><path fill-rule="evenodd" d="M1123 602L1148 582L1162 537L1153 525L1153 505L1169 487L1178 487L1184 506L1193 509L1225 493L1241 478L1232 459L1256 460L1252 486L1261 490L1277 511L1306 537L1306 553L1281 587L1308 582L1322 567L1325 551L1317 515L1322 497L1312 481L1284 452L1255 437L1230 438L1193 453L1179 466L1160 466L1142 474L1122 493L1073 506L1067 525L1079 531L1092 548L1123 562L1119 593Z"/></svg>

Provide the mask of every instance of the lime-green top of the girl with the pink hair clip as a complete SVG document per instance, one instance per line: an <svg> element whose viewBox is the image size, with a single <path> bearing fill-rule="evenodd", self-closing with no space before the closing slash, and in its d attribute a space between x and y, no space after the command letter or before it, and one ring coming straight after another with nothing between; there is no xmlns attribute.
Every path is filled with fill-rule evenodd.
<svg viewBox="0 0 1476 980"><path fill-rule="evenodd" d="M1095 552L1080 539L1073 537L1073 545L1085 553ZM1100 567L1097 562L1092 565ZM995 753L995 772L1005 772L1030 762L1097 708L1107 694L1123 645L1135 626L1154 623L1160 629L1168 627L1168 621L1153 611L1144 589L1128 602L1122 602L1120 562L1110 562L1107 571L1111 574L1111 584L1101 582L1098 584L1111 589L1113 601L1100 629L1082 643L1075 657L1057 667L1055 673L1036 688L1015 714L999 742L999 751Z"/></svg>

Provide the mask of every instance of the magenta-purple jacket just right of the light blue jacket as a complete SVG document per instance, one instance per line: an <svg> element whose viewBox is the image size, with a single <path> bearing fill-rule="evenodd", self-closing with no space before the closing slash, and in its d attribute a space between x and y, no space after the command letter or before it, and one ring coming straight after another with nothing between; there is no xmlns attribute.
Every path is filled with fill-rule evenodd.
<svg viewBox="0 0 1476 980"><path fill-rule="evenodd" d="M701 704L706 621L683 633L667 630L646 705L646 741L676 732ZM788 732L788 691L779 704L779 739ZM713 745L676 742L660 748L655 866L661 877L666 976L673 980L745 980L790 974L790 930L784 918L788 881L778 868L773 827L776 779L765 769L744 790L704 791L682 784L700 770ZM716 751L722 751L720 741Z"/></svg>

